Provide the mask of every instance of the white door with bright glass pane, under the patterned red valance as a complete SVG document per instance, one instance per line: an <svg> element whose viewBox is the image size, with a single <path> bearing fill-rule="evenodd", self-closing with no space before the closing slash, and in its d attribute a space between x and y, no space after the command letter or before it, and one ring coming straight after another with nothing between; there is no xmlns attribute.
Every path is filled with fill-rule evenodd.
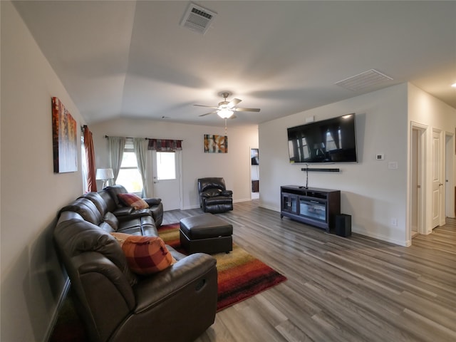
<svg viewBox="0 0 456 342"><path fill-rule="evenodd" d="M181 153L152 151L153 194L165 211L181 209Z"/></svg>

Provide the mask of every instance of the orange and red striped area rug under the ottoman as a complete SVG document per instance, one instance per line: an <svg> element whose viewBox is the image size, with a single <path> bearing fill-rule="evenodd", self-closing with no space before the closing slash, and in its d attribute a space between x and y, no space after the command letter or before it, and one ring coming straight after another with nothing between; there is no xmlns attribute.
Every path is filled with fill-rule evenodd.
<svg viewBox="0 0 456 342"><path fill-rule="evenodd" d="M179 226L179 223L163 225L158 232L166 244L185 254L185 251L180 248ZM233 244L233 250L229 254L213 254L212 257L217 259L217 312L286 280L285 276L274 271L236 244ZM71 295L63 304L49 341L86 341L83 325L73 309Z"/></svg>

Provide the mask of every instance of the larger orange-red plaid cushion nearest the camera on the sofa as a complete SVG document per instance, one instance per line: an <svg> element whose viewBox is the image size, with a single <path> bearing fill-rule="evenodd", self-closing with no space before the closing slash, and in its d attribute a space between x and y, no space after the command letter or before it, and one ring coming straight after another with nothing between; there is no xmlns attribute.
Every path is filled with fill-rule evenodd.
<svg viewBox="0 0 456 342"><path fill-rule="evenodd" d="M149 275L176 262L160 237L112 233L120 242L130 269L136 274Z"/></svg>

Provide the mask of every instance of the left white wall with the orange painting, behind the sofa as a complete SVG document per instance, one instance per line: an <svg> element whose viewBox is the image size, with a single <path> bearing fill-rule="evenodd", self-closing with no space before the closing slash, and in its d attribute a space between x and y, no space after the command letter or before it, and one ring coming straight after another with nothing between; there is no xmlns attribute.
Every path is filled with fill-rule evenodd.
<svg viewBox="0 0 456 342"><path fill-rule="evenodd" d="M83 191L81 169L53 173L51 97L83 123L14 6L0 2L0 340L43 341L66 280L51 237L56 214Z"/></svg>

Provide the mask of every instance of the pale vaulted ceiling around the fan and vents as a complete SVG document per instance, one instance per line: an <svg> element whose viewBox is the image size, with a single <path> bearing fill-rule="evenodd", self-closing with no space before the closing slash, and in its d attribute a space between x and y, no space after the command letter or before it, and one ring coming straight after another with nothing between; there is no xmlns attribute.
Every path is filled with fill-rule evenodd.
<svg viewBox="0 0 456 342"><path fill-rule="evenodd" d="M456 1L195 1L205 34L180 26L190 1L13 4L89 124L222 125L194 104L223 91L261 108L229 125L258 124L404 82L456 108ZM393 79L335 84L371 69Z"/></svg>

